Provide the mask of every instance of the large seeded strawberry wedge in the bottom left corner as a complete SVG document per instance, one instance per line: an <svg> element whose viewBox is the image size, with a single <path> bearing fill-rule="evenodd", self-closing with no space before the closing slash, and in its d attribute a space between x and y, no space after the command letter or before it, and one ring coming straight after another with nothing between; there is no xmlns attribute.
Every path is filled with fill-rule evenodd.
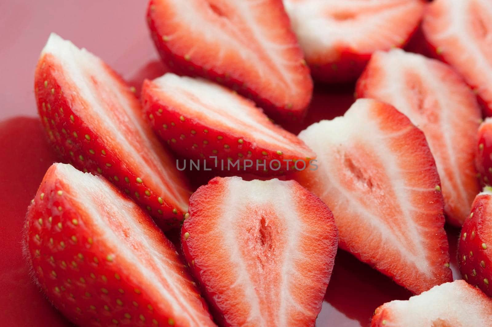
<svg viewBox="0 0 492 327"><path fill-rule="evenodd" d="M53 164L25 242L36 282L79 326L215 326L174 245L102 177Z"/></svg>

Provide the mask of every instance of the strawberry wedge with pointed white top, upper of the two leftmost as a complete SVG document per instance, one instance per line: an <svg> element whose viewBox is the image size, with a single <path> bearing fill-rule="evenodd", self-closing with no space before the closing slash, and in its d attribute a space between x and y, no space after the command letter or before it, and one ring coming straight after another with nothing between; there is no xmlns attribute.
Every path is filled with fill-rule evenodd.
<svg viewBox="0 0 492 327"><path fill-rule="evenodd" d="M162 228L178 226L190 195L130 87L102 60L51 34L36 67L39 115L63 159L101 174Z"/></svg>

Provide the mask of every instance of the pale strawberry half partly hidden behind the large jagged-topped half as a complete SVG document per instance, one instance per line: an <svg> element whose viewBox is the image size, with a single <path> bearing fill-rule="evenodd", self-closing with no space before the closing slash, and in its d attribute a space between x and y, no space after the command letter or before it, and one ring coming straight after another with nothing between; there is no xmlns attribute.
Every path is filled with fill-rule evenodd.
<svg viewBox="0 0 492 327"><path fill-rule="evenodd" d="M356 94L395 106L426 135L441 178L444 212L461 226L480 191L474 165L481 111L448 65L400 49L376 52Z"/></svg>

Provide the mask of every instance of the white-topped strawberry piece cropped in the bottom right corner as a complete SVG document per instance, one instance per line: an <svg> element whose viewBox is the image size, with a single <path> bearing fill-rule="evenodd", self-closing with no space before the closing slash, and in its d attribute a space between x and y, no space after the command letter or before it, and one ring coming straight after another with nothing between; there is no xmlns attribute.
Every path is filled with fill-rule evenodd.
<svg viewBox="0 0 492 327"><path fill-rule="evenodd" d="M464 280L455 280L406 301L384 303L374 312L370 326L492 326L492 300Z"/></svg>

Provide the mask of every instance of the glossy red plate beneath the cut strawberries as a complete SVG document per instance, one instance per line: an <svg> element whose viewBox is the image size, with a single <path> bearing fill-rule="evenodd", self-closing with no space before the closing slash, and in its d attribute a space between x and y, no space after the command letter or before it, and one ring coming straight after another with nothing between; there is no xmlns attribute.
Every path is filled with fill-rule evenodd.
<svg viewBox="0 0 492 327"><path fill-rule="evenodd" d="M124 3L124 4L123 4ZM45 0L0 3L0 321L2 326L70 326L32 285L22 259L21 231L29 201L55 160L37 121L33 74L50 32L102 57L140 88L144 78L165 72L148 35L145 1ZM353 87L317 85L303 126L343 114L353 102ZM16 118L27 115L35 118ZM456 239L448 228L455 277ZM376 307L407 299L410 293L386 276L339 251L317 327L367 327Z"/></svg>

